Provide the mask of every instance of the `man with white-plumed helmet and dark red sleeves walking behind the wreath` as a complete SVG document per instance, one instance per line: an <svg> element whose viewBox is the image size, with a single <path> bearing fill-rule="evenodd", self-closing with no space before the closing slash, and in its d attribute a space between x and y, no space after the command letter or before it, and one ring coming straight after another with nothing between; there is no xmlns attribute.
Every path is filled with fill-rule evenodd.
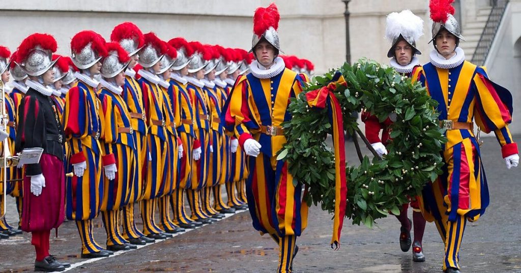
<svg viewBox="0 0 521 273"><path fill-rule="evenodd" d="M405 77L412 77L416 81L421 71L416 55L421 52L416 48L416 41L423 35L423 20L414 15L410 10L392 12L387 16L386 38L391 42L391 48L387 57L391 58L390 66ZM379 122L376 115L368 112L362 113L362 121L365 123L365 134L371 146L380 155L387 154L386 145L391 140L389 135L391 124L396 116L389 116L385 121ZM383 130L380 139L380 131ZM403 204L400 215L396 218L400 221L400 248L407 252L413 244L413 261L424 262L421 241L425 230L425 218L419 210L416 197L411 197L413 207L413 220L407 218L408 203ZM414 227L414 242L411 241L411 229Z"/></svg>

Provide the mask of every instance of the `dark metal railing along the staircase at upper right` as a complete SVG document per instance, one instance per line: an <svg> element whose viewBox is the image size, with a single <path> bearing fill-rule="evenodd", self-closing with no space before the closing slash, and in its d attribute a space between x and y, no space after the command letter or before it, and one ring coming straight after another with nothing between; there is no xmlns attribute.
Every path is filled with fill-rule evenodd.
<svg viewBox="0 0 521 273"><path fill-rule="evenodd" d="M506 5L508 4L508 0L491 0L490 2L492 9L471 61L478 66L482 66L487 59L492 42L494 42L495 33L498 31Z"/></svg>

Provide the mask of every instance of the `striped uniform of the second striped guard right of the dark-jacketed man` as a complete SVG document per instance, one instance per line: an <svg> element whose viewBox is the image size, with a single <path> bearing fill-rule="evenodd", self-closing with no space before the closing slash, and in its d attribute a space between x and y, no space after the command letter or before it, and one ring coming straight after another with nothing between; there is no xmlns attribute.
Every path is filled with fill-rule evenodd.
<svg viewBox="0 0 521 273"><path fill-rule="evenodd" d="M128 107L121 95L103 88L98 97L104 118L103 149L106 154L114 154L117 169L115 179L104 177L105 194L101 206L103 223L107 232L107 245L121 245L128 241L123 239L119 231L119 209L134 198L135 135Z"/></svg>

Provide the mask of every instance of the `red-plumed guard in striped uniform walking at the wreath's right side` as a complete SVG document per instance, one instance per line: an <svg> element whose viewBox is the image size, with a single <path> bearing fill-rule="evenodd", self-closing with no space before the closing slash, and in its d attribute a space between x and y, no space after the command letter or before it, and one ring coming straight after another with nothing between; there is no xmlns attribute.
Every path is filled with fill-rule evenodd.
<svg viewBox="0 0 521 273"><path fill-rule="evenodd" d="M519 162L517 144L508 124L512 121L512 95L492 82L485 67L465 61L460 24L452 1L430 2L434 50L423 66L419 81L438 101L440 126L449 139L444 146L444 173L422 192L420 207L435 222L445 242L444 272L460 272L459 251L467 221L475 222L489 205L489 192L474 123L485 133L494 132L506 167Z"/></svg>

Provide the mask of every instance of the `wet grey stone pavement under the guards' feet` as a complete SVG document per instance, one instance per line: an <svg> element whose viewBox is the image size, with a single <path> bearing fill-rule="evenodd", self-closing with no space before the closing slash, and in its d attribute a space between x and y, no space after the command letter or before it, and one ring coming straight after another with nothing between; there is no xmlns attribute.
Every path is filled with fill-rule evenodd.
<svg viewBox="0 0 521 273"><path fill-rule="evenodd" d="M349 160L356 164L352 142L347 149ZM486 138L481 151L491 204L477 223L467 224L460 253L462 271L521 272L521 181L517 179L521 169L506 170L495 138ZM13 198L8 200L8 222L16 222ZM141 219L137 220L141 225ZM101 219L95 224L96 241L103 243ZM277 245L269 237L259 236L248 212L95 261L79 258L74 223L65 222L58 231L57 239L52 232L51 253L73 264L69 271L74 272L274 272L277 268ZM401 252L395 218L379 220L374 229L352 226L346 219L338 251L329 246L331 232L331 215L312 207L308 228L297 240L296 272L441 272L443 243L433 223L427 223L425 230L424 263L414 263L411 251ZM31 271L33 262L30 235L0 240L0 272Z"/></svg>

